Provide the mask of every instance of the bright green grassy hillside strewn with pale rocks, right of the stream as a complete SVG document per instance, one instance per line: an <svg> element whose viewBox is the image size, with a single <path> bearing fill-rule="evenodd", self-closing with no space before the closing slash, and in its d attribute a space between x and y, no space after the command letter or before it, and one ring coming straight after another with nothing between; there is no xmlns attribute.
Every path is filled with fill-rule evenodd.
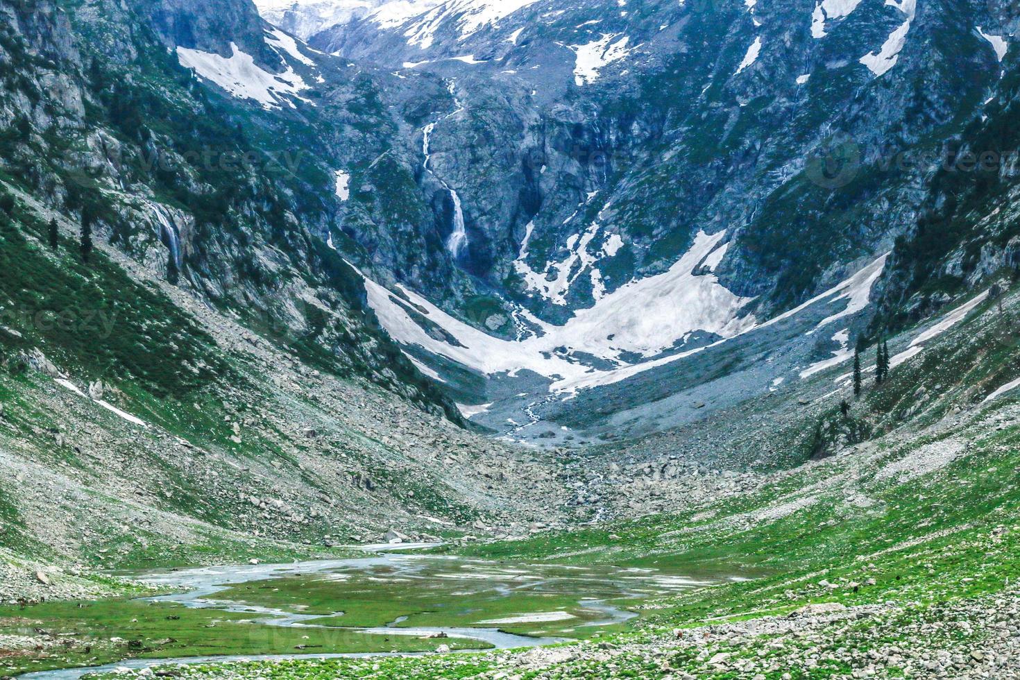
<svg viewBox="0 0 1020 680"><path fill-rule="evenodd" d="M923 352L894 367L882 385L868 377L860 400L844 388L810 409L800 403L807 400L793 399L787 406L809 411L804 419L810 422L831 418L832 407L849 397L847 417L866 420L873 432L865 441L832 442L828 455L795 468L709 474L700 484L650 475L646 485L679 485L688 492L671 496L654 515L451 548L499 561L679 573L728 569L750 578L647 603L623 632L551 648L260 662L174 673L186 678L1016 677L1020 393L1009 387L1020 375L1018 312L1015 293L985 300ZM894 338L890 347L909 344L923 327ZM840 374L838 367L823 372L812 386L832 385Z"/></svg>

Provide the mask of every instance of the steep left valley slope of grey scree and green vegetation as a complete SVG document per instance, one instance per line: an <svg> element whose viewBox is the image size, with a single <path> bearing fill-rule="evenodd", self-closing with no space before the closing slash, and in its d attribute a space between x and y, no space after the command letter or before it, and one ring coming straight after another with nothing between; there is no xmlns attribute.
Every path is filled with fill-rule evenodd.
<svg viewBox="0 0 1020 680"><path fill-rule="evenodd" d="M378 325L352 264L370 260L337 227L335 148L288 155L332 136L345 161L378 156L380 121L403 124L369 101L380 76L246 2L0 12L0 531L18 574L565 517L555 462L466 430ZM412 220L389 195L350 213Z"/></svg>

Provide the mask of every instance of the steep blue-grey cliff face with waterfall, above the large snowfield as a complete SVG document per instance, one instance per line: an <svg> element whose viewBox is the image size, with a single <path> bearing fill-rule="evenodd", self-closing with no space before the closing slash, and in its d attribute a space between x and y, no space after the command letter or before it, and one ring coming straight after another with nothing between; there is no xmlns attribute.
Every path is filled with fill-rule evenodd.
<svg viewBox="0 0 1020 680"><path fill-rule="evenodd" d="M886 161L979 114L1005 35L980 2L518 5L369 14L313 42L455 83L431 146L461 264L550 319L668 268L698 228L731 234L720 275L766 310L833 283L913 221L925 172ZM842 154L852 167L826 177ZM586 258L568 241L591 229ZM564 271L578 260L608 271Z"/></svg>

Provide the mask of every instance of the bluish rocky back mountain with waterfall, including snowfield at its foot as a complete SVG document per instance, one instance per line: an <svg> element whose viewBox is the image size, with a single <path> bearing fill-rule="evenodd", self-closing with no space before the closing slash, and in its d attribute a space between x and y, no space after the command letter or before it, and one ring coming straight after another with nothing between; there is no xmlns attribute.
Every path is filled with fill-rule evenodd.
<svg viewBox="0 0 1020 680"><path fill-rule="evenodd" d="M665 398L707 414L846 361L850 345L929 316L1015 259L1010 220L985 219L1014 184L1006 4L388 7L309 41L403 81L446 82L412 139L434 214L423 226L455 270L422 277L394 266L398 244L373 243L407 290L370 304L477 405L466 413L513 438L668 428L691 414L659 418ZM977 143L983 127L1000 132ZM957 191L983 198L956 214ZM851 289L858 298L815 323L846 321L799 337L815 325L805 303ZM800 330L776 337L793 310ZM703 348L725 368L706 375Z"/></svg>

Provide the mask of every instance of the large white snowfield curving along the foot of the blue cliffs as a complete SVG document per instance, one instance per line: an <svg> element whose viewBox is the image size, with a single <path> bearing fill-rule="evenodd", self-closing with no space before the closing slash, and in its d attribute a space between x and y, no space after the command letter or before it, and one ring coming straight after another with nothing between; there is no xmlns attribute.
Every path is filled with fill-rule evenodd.
<svg viewBox="0 0 1020 680"><path fill-rule="evenodd" d="M885 263L882 256L796 310L758 324L752 315L740 316L751 299L734 295L712 273L725 256L727 245L721 243L723 238L724 232L699 232L687 253L668 271L631 281L607 294L591 308L576 311L563 325L548 324L522 313L541 332L517 341L489 335L405 286L398 285L392 293L366 278L365 287L369 305L397 342L417 346L487 375L513 377L520 371L532 371L553 380L551 391L573 394L618 382L707 349L700 347L662 356L692 332L706 331L719 336L721 339L708 346L714 347L788 318L811 305L846 301L846 308L824 319L816 326L820 328L863 309ZM525 238L525 249L526 243ZM456 343L437 339L418 325L409 312L411 306L416 314L442 327ZM846 360L849 332L840 330L833 339L840 344L842 350L827 360L832 362L830 365ZM583 363L583 356L610 362L612 367L593 368ZM640 360L630 363L634 356Z"/></svg>

